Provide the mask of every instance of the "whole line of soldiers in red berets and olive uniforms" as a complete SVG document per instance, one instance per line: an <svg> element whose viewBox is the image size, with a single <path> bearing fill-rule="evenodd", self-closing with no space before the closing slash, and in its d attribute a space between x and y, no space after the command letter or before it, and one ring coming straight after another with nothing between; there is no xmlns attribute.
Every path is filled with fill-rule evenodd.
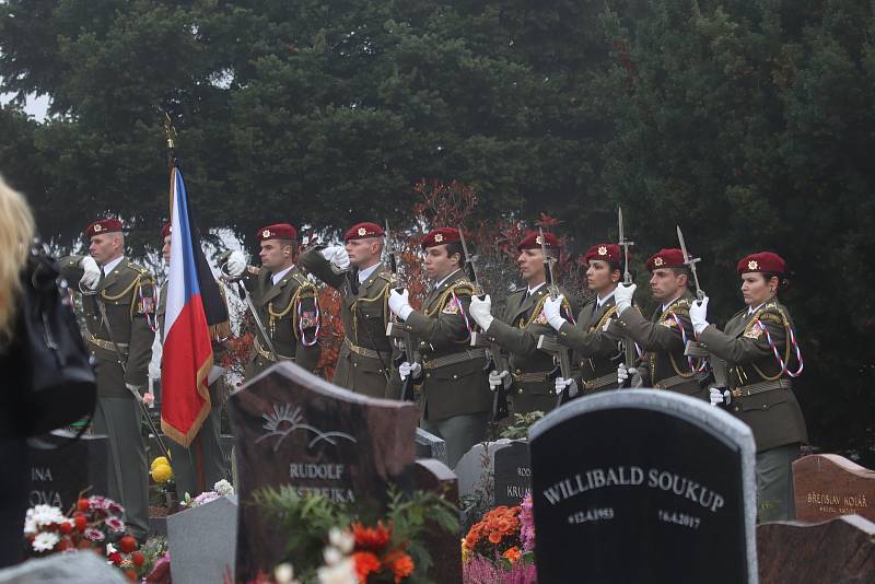
<svg viewBox="0 0 875 584"><path fill-rule="evenodd" d="M167 223L155 233L168 265L172 230ZM166 336L167 284L159 290L154 275L124 256L124 231L117 219L93 222L84 230L89 254L60 264L82 294L85 337L98 363L94 431L109 439L107 495L122 503L132 535L145 540L148 464L139 402L152 399L148 366L155 332L162 341ZM680 247L648 259L656 309L641 313L621 218L620 241L596 243L584 255L592 296L583 306L556 281L559 238L527 232L516 242L522 285L508 294L501 314L493 313L492 295L502 291L482 290L458 226L432 229L421 240L430 285L419 308L399 278L388 225L358 223L342 245L302 253L290 223L266 225L257 240L258 266L238 250L220 256L222 301L229 293L243 299L256 329L246 379L283 361L316 371L318 280L338 292L343 324L330 381L370 397L417 399L420 427L446 442L451 468L486 440L490 421L509 411L548 412L596 393L655 388L725 408L748 424L757 448L759 521L794 517L791 464L807 434L792 388L803 362L792 317L779 300L786 275L779 255L738 260L744 306L721 330L709 322L698 259L682 235ZM210 330L218 363L226 324ZM219 429L228 388L219 367L210 373L209 408L196 435L179 441L171 434L167 442L180 498L208 490L225 474Z"/></svg>

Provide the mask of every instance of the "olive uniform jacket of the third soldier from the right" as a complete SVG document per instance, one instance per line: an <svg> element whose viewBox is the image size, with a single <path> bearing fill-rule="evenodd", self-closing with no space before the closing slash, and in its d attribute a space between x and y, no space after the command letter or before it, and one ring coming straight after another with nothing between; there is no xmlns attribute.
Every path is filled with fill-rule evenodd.
<svg viewBox="0 0 875 584"><path fill-rule="evenodd" d="M617 388L621 338L606 330L606 325L616 318L614 296L602 306L593 299L581 309L576 324L565 322L559 329L559 342L574 350L572 363L579 367L580 395Z"/></svg>

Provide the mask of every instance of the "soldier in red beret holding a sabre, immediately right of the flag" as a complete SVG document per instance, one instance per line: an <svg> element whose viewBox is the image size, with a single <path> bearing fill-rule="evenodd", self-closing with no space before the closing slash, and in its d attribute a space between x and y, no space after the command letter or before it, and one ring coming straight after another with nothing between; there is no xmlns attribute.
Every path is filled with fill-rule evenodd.
<svg viewBox="0 0 875 584"><path fill-rule="evenodd" d="M256 331L246 379L279 361L294 361L307 371L319 362L319 304L316 287L298 269L298 231L289 223L258 230L261 267L231 260L226 270L243 278L253 304L276 350Z"/></svg>

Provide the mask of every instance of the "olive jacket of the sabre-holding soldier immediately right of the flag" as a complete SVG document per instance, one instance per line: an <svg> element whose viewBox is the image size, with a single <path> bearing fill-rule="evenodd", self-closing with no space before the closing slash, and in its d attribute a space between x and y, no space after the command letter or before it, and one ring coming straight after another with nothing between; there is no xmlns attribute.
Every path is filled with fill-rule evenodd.
<svg viewBox="0 0 875 584"><path fill-rule="evenodd" d="M252 295L279 360L294 361L305 370L314 371L319 362L316 287L296 266L292 266L276 284L268 270L249 266L243 273L243 283ZM246 379L252 379L276 362L261 339L261 332L256 331Z"/></svg>

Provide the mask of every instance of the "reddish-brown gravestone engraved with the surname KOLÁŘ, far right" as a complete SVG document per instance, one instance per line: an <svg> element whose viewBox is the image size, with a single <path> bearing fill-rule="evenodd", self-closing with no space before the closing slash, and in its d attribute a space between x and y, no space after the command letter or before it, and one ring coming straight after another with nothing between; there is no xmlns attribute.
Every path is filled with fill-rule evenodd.
<svg viewBox="0 0 875 584"><path fill-rule="evenodd" d="M875 521L875 471L836 454L815 454L793 463L796 518L821 522L839 515Z"/></svg>

